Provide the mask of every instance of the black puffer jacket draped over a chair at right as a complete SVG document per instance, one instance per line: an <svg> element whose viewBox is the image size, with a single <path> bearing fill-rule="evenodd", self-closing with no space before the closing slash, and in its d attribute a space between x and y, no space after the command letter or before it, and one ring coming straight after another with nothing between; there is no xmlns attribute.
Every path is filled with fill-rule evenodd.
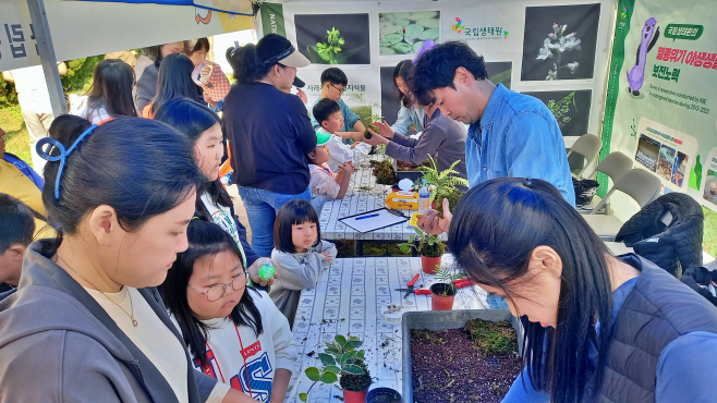
<svg viewBox="0 0 717 403"><path fill-rule="evenodd" d="M660 220L668 211L672 221L665 225ZM704 219L695 199L683 193L669 193L632 216L615 241L624 242L637 255L679 279L690 266L702 266Z"/></svg>

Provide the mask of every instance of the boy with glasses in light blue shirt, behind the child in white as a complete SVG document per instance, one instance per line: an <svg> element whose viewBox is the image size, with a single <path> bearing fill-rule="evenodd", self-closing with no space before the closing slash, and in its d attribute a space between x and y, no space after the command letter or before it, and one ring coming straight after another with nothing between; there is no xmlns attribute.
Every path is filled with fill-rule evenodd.
<svg viewBox="0 0 717 403"><path fill-rule="evenodd" d="M347 90L349 78L341 69L326 69L321 73L321 94L319 95L318 99L314 101L314 106L324 98L328 98L339 103L339 107L341 108L341 114L343 115L343 130L337 132L336 134L341 136L341 138L344 141L353 138L356 142L361 142L364 138L363 133L366 130L366 126L364 126L364 124L361 122L358 114L352 111L347 102L341 99L343 91ZM321 125L316 121L313 114L312 124L316 131L321 129Z"/></svg>

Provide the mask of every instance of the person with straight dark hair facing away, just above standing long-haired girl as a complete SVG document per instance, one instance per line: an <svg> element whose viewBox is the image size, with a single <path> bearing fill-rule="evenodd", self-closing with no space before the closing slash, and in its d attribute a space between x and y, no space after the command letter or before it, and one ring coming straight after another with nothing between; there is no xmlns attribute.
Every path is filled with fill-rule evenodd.
<svg viewBox="0 0 717 403"><path fill-rule="evenodd" d="M142 117L151 119L165 102L174 98L203 102L202 88L192 80L193 70L194 63L186 54L172 53L166 57L159 66L157 95L142 110Z"/></svg>

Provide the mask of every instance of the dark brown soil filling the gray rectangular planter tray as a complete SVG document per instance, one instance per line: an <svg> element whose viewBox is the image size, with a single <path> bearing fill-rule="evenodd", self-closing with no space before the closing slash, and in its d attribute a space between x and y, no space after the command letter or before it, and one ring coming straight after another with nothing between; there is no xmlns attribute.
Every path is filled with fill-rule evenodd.
<svg viewBox="0 0 717 403"><path fill-rule="evenodd" d="M414 402L500 402L522 369L521 359L517 350L486 356L478 349L485 350L465 329L411 330Z"/></svg>

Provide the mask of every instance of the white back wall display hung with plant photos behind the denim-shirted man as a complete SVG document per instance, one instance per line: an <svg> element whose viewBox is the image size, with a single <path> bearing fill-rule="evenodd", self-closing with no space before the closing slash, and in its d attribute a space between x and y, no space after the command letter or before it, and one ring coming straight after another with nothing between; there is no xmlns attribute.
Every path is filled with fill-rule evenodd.
<svg viewBox="0 0 717 403"><path fill-rule="evenodd" d="M260 11L263 17L266 5ZM599 133L612 0L290 1L271 5L275 25L265 20L264 30L285 26L285 36L313 61L299 72L307 83L309 106L319 96L321 72L336 65L349 77L342 98L349 106L373 105L377 112L382 110L380 114L387 121L394 121L398 101L392 88L393 68L414 57L414 47L420 46L416 44L438 36L439 41L466 40L485 57L488 73L496 82L561 108L568 146L584 133ZM284 26L276 24L277 19ZM555 34L552 23L568 25L562 36L575 32L581 49L556 50L551 57L539 59L544 40L549 33ZM396 36L390 35L396 27L409 25L409 33L399 34L394 42ZM343 37L344 45L339 53L321 59L317 44L329 45L327 30L332 28ZM558 80L546 80L554 62L560 63ZM568 63L575 62L579 65L572 64L576 69L571 72Z"/></svg>

